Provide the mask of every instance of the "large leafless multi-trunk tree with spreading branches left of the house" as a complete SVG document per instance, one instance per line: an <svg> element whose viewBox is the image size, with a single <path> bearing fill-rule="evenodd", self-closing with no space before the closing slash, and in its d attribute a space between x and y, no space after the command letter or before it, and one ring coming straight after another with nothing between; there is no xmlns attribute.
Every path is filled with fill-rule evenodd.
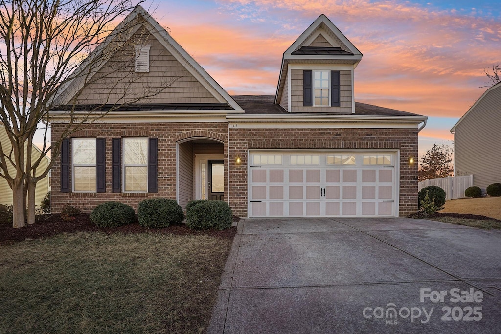
<svg viewBox="0 0 501 334"><path fill-rule="evenodd" d="M147 87L141 81L144 74L134 73L133 45L145 44L141 40L148 33L143 16L123 20L133 9L130 0L0 1L0 122L10 140L0 143L0 176L13 191L14 227L35 222L37 182L49 173L64 138L172 85L170 80L160 89ZM124 70L130 75L116 75ZM144 85L141 94L128 90L139 81ZM92 83L120 93L109 94L106 103L81 108L87 97L84 88ZM52 144L44 140L36 159L33 138L37 128L47 138L51 110L69 121ZM52 162L41 170L49 152Z"/></svg>

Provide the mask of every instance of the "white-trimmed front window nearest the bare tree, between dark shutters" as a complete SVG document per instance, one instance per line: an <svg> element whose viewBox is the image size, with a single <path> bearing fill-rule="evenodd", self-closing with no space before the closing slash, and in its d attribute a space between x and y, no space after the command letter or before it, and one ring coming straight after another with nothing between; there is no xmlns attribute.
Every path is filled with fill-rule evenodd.
<svg viewBox="0 0 501 334"><path fill-rule="evenodd" d="M72 179L74 192L96 192L96 138L73 138Z"/></svg>

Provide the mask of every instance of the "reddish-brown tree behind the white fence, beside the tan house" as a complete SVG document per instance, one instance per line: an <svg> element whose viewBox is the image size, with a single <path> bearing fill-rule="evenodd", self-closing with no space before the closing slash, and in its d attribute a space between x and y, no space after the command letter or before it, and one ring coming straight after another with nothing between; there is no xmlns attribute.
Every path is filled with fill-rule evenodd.
<svg viewBox="0 0 501 334"><path fill-rule="evenodd" d="M452 175L452 147L434 143L419 159L418 180L432 180Z"/></svg>

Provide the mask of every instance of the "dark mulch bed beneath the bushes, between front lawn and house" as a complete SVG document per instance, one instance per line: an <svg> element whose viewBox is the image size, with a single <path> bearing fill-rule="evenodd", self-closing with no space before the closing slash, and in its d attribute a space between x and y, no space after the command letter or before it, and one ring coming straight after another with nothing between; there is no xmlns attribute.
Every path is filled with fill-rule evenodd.
<svg viewBox="0 0 501 334"><path fill-rule="evenodd" d="M238 217L236 217L238 218ZM238 218L239 219L239 218ZM235 217L233 218L235 221ZM238 220L236 220L238 221ZM23 228L13 228L11 224L0 224L0 243L7 241L23 241L26 239L43 239L63 232L94 232L111 233L161 233L174 235L208 235L219 238L232 239L236 234L236 227L219 230L192 230L186 225L172 225L166 228L146 228L138 223L121 227L97 227L89 220L89 214L79 214L74 221L62 220L59 214L46 215L33 225Z"/></svg>

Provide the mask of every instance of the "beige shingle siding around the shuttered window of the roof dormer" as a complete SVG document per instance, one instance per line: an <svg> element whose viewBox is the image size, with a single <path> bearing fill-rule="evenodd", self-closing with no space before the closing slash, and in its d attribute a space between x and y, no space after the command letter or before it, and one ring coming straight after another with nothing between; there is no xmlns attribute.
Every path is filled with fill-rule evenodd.
<svg viewBox="0 0 501 334"><path fill-rule="evenodd" d="M341 106L340 107L304 107L303 106L303 71L291 70L291 102L293 113L351 113L352 90L351 71L340 71Z"/></svg>

